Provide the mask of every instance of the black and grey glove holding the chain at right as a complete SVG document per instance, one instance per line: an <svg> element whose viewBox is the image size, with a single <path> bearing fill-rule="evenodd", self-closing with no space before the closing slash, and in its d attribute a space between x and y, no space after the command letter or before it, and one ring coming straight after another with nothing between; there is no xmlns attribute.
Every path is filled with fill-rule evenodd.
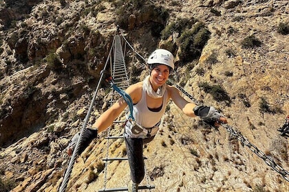
<svg viewBox="0 0 289 192"><path fill-rule="evenodd" d="M215 122L220 120L220 117L223 117L220 112L218 112L214 107L208 106L195 106L193 108L195 115L199 116L204 122L209 125L215 125Z"/></svg>

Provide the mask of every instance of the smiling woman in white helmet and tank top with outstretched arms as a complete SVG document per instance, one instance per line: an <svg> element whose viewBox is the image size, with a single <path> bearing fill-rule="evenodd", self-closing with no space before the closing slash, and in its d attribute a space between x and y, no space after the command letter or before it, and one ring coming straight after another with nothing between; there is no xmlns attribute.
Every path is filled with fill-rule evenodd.
<svg viewBox="0 0 289 192"><path fill-rule="evenodd" d="M137 191L138 184L144 178L142 145L151 141L156 135L169 99L172 99L178 108L189 117L200 116L202 119L227 123L226 118L222 117L215 108L189 103L180 96L177 88L166 84L169 74L174 69L171 52L165 49L156 49L149 56L147 64L149 75L144 81L129 86L125 91L133 102L133 117L135 118L135 121L131 121L127 115L124 134L132 180L129 191ZM87 129L86 135L88 136L85 136L83 144L89 145L97 135L94 130L98 130L98 132L106 130L126 107L125 99L120 98L111 108L103 112L92 126L93 130Z"/></svg>

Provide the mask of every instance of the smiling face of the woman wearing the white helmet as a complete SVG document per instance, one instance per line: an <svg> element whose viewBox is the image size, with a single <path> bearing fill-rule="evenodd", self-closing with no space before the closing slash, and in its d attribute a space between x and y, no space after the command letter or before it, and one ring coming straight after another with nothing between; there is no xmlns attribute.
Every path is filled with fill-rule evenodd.
<svg viewBox="0 0 289 192"><path fill-rule="evenodd" d="M169 78L169 67L159 64L151 71L151 85L153 87L162 86Z"/></svg>

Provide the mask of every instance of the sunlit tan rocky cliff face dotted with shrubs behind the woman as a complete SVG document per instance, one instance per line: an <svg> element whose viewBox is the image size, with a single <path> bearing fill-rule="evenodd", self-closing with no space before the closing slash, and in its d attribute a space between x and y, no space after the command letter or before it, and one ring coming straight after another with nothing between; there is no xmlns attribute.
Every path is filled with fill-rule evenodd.
<svg viewBox="0 0 289 192"><path fill-rule="evenodd" d="M248 139L184 117L169 103L158 135L144 146L143 184L154 191L288 191L288 181L264 162L270 156L289 170L288 141L277 132L289 113L289 36L278 32L279 23L288 25L288 12L286 1L2 2L0 191L57 191L69 161L65 147L83 125L116 24L144 57L156 47L173 50L175 83L222 110ZM180 19L192 24L161 40L170 23L185 25ZM184 62L182 40L200 23L210 38L200 58ZM246 48L253 37L260 44ZM142 80L147 73L134 62L129 70ZM107 90L101 84L88 125L107 108ZM105 134L77 158L67 191L126 186L125 162L110 163L105 176ZM114 125L111 135L120 134ZM111 141L109 156L125 156L121 139Z"/></svg>

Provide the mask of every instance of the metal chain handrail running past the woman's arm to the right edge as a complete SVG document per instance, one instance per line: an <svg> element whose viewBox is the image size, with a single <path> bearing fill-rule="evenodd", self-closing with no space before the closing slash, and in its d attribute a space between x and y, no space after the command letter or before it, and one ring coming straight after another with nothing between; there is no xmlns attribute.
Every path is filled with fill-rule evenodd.
<svg viewBox="0 0 289 192"><path fill-rule="evenodd" d="M197 101L197 99L193 98L192 95L190 95L189 93L187 93L186 91L184 91L184 89L180 86L178 86L177 84L175 84L175 87L178 88L178 90L180 90L182 93L184 93L184 95L186 95L187 97L189 97L189 99L191 99L195 104L200 105L201 103L199 101ZM257 156L259 156L259 158L263 159L265 161L265 163L272 167L272 169L274 169L275 171L277 171L277 173L281 174L281 176L283 176L283 178L287 181L289 181L289 172L286 171L285 169L283 169L281 166L279 166L277 163L275 163L275 161L268 155L264 154L264 152L261 152L255 145L253 145L252 143L250 143L250 141L248 141L248 139L246 139L246 137L244 137L242 134L240 134L239 132L237 132L236 130L234 130L230 125L227 125L225 123L221 123L221 125L226 128L226 130L233 136L235 136L239 141L241 141L244 145L246 145L247 147L249 147L249 149L254 152L255 154L257 154Z"/></svg>

